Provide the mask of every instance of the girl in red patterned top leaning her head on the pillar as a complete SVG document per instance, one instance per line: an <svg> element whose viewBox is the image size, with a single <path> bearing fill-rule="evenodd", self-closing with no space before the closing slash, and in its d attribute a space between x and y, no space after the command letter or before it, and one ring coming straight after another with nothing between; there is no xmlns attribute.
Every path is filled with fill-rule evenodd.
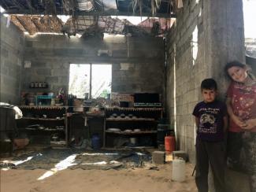
<svg viewBox="0 0 256 192"><path fill-rule="evenodd" d="M256 80L247 65L238 61L228 63L224 69L232 79L226 101L230 116L228 165L239 164L243 146L247 171L250 171L250 191L256 191Z"/></svg>

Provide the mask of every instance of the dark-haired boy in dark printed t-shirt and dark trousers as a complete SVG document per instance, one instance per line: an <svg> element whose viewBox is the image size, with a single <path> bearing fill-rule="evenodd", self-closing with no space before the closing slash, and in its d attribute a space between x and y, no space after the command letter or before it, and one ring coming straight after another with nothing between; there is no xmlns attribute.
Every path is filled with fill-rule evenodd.
<svg viewBox="0 0 256 192"><path fill-rule="evenodd" d="M228 124L224 102L216 100L217 83L204 79L201 83L202 102L195 105L193 115L197 126L195 183L199 192L208 192L209 164L213 171L216 192L224 192L224 131Z"/></svg>

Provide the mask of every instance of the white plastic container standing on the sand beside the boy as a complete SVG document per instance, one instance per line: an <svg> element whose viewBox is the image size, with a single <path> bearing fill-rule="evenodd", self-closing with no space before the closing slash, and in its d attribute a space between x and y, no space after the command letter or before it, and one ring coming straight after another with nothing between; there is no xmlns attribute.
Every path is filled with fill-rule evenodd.
<svg viewBox="0 0 256 192"><path fill-rule="evenodd" d="M186 163L183 159L173 160L172 180L183 182L185 180Z"/></svg>

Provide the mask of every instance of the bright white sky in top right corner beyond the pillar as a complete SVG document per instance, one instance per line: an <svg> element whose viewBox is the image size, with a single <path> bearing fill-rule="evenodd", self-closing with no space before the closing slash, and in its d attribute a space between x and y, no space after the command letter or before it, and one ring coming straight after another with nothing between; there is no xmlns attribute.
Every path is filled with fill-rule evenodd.
<svg viewBox="0 0 256 192"><path fill-rule="evenodd" d="M243 21L245 38L256 38L255 17L256 1L243 0Z"/></svg>

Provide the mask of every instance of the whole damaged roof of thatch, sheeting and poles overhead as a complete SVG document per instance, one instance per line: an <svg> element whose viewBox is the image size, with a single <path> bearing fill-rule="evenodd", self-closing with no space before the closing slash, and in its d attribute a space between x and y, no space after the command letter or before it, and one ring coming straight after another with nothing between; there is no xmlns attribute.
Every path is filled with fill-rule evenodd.
<svg viewBox="0 0 256 192"><path fill-rule="evenodd" d="M30 35L37 32L162 35L173 24L175 0L2 0L9 20ZM63 22L59 16L68 15ZM112 17L111 17L112 16ZM113 17L115 16L115 17ZM117 16L148 17L138 25ZM154 18L150 18L154 17ZM160 17L160 18L156 18Z"/></svg>

